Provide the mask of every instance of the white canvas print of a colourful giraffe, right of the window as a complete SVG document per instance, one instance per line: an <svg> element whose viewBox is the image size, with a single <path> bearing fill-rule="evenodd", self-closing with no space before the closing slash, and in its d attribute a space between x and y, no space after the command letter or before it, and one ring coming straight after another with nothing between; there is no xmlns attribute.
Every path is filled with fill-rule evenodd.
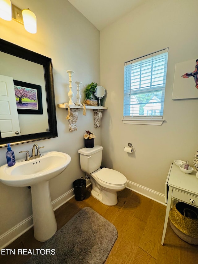
<svg viewBox="0 0 198 264"><path fill-rule="evenodd" d="M176 63L172 100L198 98L198 58Z"/></svg>

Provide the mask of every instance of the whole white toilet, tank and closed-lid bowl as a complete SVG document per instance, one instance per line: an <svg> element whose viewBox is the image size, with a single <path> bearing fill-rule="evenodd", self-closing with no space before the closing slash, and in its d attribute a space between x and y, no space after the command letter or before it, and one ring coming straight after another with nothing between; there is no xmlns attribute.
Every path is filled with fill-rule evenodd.
<svg viewBox="0 0 198 264"><path fill-rule="evenodd" d="M100 168L102 162L102 146L79 149L81 170L89 175L92 183L92 196L105 205L118 203L117 192L127 186L127 178L120 172Z"/></svg>

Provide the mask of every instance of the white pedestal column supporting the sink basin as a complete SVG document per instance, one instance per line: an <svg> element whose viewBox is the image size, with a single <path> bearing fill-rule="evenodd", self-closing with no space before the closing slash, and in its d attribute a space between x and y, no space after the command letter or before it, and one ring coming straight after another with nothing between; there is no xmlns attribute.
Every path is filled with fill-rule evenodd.
<svg viewBox="0 0 198 264"><path fill-rule="evenodd" d="M45 242L57 231L57 223L49 193L49 181L31 186L34 237Z"/></svg>

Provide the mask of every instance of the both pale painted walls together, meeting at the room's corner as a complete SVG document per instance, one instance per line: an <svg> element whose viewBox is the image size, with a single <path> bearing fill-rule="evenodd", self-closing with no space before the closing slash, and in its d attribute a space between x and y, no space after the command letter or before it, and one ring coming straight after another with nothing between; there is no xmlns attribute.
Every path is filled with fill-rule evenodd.
<svg viewBox="0 0 198 264"><path fill-rule="evenodd" d="M71 163L61 175L50 181L52 201L67 193L72 182L83 175L78 149L84 147L84 131L96 134L95 143L104 147L103 166L114 168L127 180L164 194L170 163L174 159L192 159L198 148L197 99L172 101L175 63L197 56L197 1L149 0L117 22L99 32L67 0L13 0L21 9L30 8L37 15L37 33L25 31L15 21L0 21L1 38L53 60L56 105L68 102L67 70L75 71L75 81L97 82L107 90L102 127L94 128L93 111L79 112L78 130L69 132L67 111L56 109L58 138L37 142L42 151L63 151ZM162 126L123 124L124 62L169 47L164 118ZM101 50L100 50L101 49ZM100 69L101 61L101 69ZM101 71L101 72L100 72ZM101 76L100 76L101 74ZM101 81L100 81L101 78ZM74 95L75 98L75 95ZM83 99L83 98L82 98ZM128 142L135 152L127 154ZM13 146L31 150L33 143ZM0 148L0 165L6 163L6 148ZM28 188L0 184L0 235L32 214Z"/></svg>

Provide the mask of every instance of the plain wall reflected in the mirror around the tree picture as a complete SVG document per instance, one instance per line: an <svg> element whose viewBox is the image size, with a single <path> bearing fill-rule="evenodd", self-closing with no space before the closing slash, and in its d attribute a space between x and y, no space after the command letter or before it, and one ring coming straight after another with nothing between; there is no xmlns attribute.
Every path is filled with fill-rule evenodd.
<svg viewBox="0 0 198 264"><path fill-rule="evenodd" d="M18 58L16 56L0 52L0 73L4 76L11 76L14 80L21 82L40 85L42 87L42 115L35 114L17 114L20 125L20 135L28 135L33 133L46 132L49 128L47 102L46 102L46 90L45 90L45 77L43 65L33 63L31 61ZM14 92L14 86L13 86ZM14 104L16 105L16 99ZM17 107L17 106L16 106ZM17 113L17 109L16 109ZM5 129L4 126L1 129ZM2 136L2 135L1 135ZM3 136L2 136L3 137ZM8 137L8 136L7 136Z"/></svg>

